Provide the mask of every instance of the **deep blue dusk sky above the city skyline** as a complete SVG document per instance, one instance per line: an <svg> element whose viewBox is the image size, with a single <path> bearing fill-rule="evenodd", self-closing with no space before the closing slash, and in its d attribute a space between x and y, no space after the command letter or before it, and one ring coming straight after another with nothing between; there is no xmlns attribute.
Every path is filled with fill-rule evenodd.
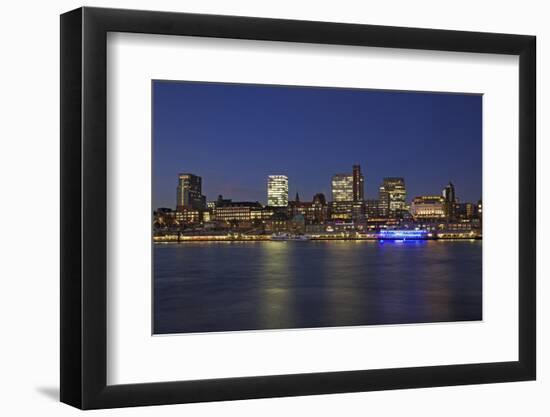
<svg viewBox="0 0 550 417"><path fill-rule="evenodd" d="M177 175L203 194L266 202L269 174L289 195L331 198L330 180L360 164L367 198L404 177L407 201L452 181L481 198L482 97L361 89L153 82L153 207L175 207Z"/></svg>

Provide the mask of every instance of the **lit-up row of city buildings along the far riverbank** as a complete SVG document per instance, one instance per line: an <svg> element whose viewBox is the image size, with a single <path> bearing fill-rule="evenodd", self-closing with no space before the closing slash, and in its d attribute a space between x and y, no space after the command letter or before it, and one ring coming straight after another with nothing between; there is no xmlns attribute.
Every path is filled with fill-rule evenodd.
<svg viewBox="0 0 550 417"><path fill-rule="evenodd" d="M298 194L289 199L285 175L267 177L267 204L233 201L218 196L207 201L202 178L180 174L175 209L154 212L156 236L177 232L201 236L239 233L255 236L292 234L361 234L383 229L427 230L440 236L480 237L481 201L460 202L449 183L439 193L416 196L408 202L404 178L384 178L378 199L365 198L361 167L332 177L331 200L322 193L311 200Z"/></svg>

